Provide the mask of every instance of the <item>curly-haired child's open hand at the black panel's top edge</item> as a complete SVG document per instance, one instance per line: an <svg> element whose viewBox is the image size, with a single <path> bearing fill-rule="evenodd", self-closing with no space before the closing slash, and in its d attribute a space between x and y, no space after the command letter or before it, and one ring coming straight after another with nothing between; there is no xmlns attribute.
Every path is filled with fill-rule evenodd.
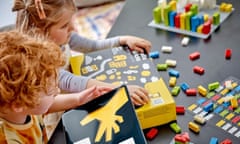
<svg viewBox="0 0 240 144"><path fill-rule="evenodd" d="M78 93L78 105L83 105L109 91L112 88L105 86L93 86Z"/></svg>

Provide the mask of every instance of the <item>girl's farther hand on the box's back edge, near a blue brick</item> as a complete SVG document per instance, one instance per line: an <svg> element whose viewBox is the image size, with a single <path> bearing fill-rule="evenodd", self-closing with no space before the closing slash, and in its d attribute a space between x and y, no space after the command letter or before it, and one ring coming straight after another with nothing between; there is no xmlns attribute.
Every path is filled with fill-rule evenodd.
<svg viewBox="0 0 240 144"><path fill-rule="evenodd" d="M144 51L149 54L151 49L151 42L135 36L121 36L120 45L127 45L131 50L135 50L141 53Z"/></svg>

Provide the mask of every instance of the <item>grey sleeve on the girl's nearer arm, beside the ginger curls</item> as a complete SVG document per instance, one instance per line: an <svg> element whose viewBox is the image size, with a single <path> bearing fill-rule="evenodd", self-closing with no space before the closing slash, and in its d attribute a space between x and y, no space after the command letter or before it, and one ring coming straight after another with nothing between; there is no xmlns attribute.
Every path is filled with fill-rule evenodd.
<svg viewBox="0 0 240 144"><path fill-rule="evenodd" d="M87 86L90 78L84 76L76 76L64 69L59 72L59 88L67 92L80 92Z"/></svg>

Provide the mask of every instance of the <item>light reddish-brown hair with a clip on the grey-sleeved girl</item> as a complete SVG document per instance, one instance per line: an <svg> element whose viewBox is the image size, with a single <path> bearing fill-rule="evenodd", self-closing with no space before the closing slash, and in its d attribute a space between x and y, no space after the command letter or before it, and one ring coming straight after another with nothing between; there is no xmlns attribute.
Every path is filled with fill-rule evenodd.
<svg viewBox="0 0 240 144"><path fill-rule="evenodd" d="M17 28L23 31L38 28L47 34L48 29L60 21L64 9L76 11L73 0L41 0L42 13L46 16L41 18L35 2L36 0L15 0L12 11L17 11Z"/></svg>

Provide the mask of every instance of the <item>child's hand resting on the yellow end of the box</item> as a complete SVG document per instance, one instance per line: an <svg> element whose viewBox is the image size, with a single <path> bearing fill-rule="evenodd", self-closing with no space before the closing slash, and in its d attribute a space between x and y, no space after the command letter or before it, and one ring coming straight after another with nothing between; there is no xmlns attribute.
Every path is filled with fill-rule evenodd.
<svg viewBox="0 0 240 144"><path fill-rule="evenodd" d="M135 105L140 106L148 103L149 96L147 90L137 85L128 85L127 87L131 100Z"/></svg>

